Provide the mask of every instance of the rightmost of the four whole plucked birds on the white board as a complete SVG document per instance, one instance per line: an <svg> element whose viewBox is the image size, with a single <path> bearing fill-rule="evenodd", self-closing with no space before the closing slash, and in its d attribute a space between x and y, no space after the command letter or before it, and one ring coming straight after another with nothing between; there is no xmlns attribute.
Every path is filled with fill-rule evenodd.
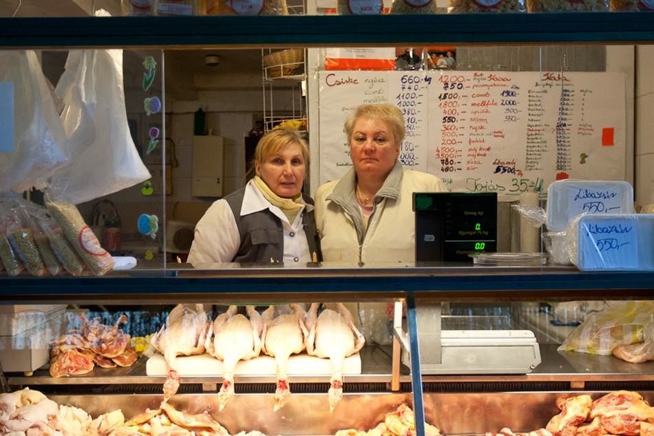
<svg viewBox="0 0 654 436"><path fill-rule="evenodd" d="M357 330L352 313L343 304L337 303L336 311L325 309L318 316L319 305L311 304L304 322L309 331L306 352L328 358L332 364L329 408L333 411L343 397L343 362L346 357L358 353L366 339Z"/></svg>

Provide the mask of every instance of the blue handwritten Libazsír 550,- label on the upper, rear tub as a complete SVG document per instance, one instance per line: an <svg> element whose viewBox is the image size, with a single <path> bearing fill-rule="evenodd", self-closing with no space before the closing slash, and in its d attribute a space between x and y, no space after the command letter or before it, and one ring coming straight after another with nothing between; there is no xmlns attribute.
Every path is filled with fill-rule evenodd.
<svg viewBox="0 0 654 436"><path fill-rule="evenodd" d="M623 189L620 186L582 186L568 188L568 216L580 214L619 214L622 211Z"/></svg>

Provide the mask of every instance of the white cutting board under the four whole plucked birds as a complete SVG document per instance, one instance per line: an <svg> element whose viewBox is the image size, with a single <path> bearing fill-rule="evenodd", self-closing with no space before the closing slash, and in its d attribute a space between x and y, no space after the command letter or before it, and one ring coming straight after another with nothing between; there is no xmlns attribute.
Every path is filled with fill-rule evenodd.
<svg viewBox="0 0 654 436"><path fill-rule="evenodd" d="M193 356L177 357L178 373L184 375L222 376L222 360L204 353ZM147 360L147 375L168 375L168 364L161 353L156 353ZM288 359L288 375L331 375L332 364L329 359L313 357L306 353L294 354ZM361 374L361 356L359 353L346 357L343 364L344 374ZM236 364L235 375L276 375L275 358L260 355L251 360L241 360Z"/></svg>

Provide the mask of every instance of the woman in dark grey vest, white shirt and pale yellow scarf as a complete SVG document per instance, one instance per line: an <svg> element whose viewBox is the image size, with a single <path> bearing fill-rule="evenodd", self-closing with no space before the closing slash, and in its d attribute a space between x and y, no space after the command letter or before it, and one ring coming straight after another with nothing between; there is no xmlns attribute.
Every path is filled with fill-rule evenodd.
<svg viewBox="0 0 654 436"><path fill-rule="evenodd" d="M295 129L260 139L247 185L216 201L198 225L188 262L299 264L321 260L313 200L302 194L308 146Z"/></svg>

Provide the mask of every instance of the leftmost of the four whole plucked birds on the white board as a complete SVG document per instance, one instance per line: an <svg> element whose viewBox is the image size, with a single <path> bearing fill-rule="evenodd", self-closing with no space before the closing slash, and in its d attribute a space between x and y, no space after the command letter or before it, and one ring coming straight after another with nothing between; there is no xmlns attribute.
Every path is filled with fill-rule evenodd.
<svg viewBox="0 0 654 436"><path fill-rule="evenodd" d="M209 322L202 304L196 304L195 309L188 304L178 304L168 314L165 326L151 339L150 344L164 355L168 364L164 402L180 387L177 356L204 353L204 339L208 333Z"/></svg>

